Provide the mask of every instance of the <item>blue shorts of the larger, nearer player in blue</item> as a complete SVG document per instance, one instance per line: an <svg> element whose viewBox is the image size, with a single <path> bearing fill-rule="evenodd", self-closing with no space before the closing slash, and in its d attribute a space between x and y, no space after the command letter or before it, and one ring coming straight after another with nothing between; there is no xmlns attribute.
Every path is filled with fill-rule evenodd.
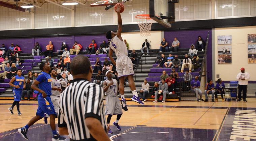
<svg viewBox="0 0 256 141"><path fill-rule="evenodd" d="M38 108L36 111L36 115L39 115L41 118L43 117L44 113L48 115L57 115L54 110L54 106L50 96L46 96L45 98L43 98L42 94L40 93L37 97L37 102Z"/></svg>

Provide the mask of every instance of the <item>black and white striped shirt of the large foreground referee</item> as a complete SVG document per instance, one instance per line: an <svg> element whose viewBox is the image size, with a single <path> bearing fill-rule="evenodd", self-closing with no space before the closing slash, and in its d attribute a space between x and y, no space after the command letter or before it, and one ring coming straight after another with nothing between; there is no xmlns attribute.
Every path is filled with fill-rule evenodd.
<svg viewBox="0 0 256 141"><path fill-rule="evenodd" d="M74 79L60 96L58 127L67 127L71 140L95 140L85 119L96 118L107 131L103 89L85 79Z"/></svg>

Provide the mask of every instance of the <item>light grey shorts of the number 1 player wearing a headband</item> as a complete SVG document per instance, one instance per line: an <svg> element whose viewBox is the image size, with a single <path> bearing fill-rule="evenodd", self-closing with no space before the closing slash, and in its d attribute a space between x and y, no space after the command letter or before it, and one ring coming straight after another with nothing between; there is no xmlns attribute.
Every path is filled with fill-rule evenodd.
<svg viewBox="0 0 256 141"><path fill-rule="evenodd" d="M122 106L118 96L106 96L106 110L105 115L122 114Z"/></svg>

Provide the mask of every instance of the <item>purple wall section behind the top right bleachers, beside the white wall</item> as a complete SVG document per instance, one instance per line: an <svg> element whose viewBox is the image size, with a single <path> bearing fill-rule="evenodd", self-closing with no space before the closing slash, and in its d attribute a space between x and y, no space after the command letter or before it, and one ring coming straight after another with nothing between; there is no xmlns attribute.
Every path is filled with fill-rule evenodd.
<svg viewBox="0 0 256 141"><path fill-rule="evenodd" d="M177 40L180 41L180 48L190 48L192 44L195 45L197 37L200 35L204 41L206 41L207 33L209 31L209 43L207 48L206 55L206 79L212 79L213 70L212 70L212 29L205 30L182 30L182 31L165 31L164 37L168 42L168 45L171 46L174 37L177 37Z"/></svg>

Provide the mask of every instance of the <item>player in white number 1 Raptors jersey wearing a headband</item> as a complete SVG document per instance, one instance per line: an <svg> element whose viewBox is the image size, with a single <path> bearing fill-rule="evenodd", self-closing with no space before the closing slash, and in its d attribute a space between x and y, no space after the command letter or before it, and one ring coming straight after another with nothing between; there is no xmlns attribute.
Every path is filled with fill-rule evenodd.
<svg viewBox="0 0 256 141"><path fill-rule="evenodd" d="M119 102L119 98L117 96L118 91L118 82L115 79L112 79L111 71L106 72L107 80L103 82L103 91L106 95L106 112L105 115L107 116L107 126L109 128L109 123L111 120L112 115L117 114L117 120L113 122L113 124L117 127L118 130L121 130L121 127L118 124L118 121L120 120L123 111L122 106ZM108 134L112 134L113 132L109 128Z"/></svg>

